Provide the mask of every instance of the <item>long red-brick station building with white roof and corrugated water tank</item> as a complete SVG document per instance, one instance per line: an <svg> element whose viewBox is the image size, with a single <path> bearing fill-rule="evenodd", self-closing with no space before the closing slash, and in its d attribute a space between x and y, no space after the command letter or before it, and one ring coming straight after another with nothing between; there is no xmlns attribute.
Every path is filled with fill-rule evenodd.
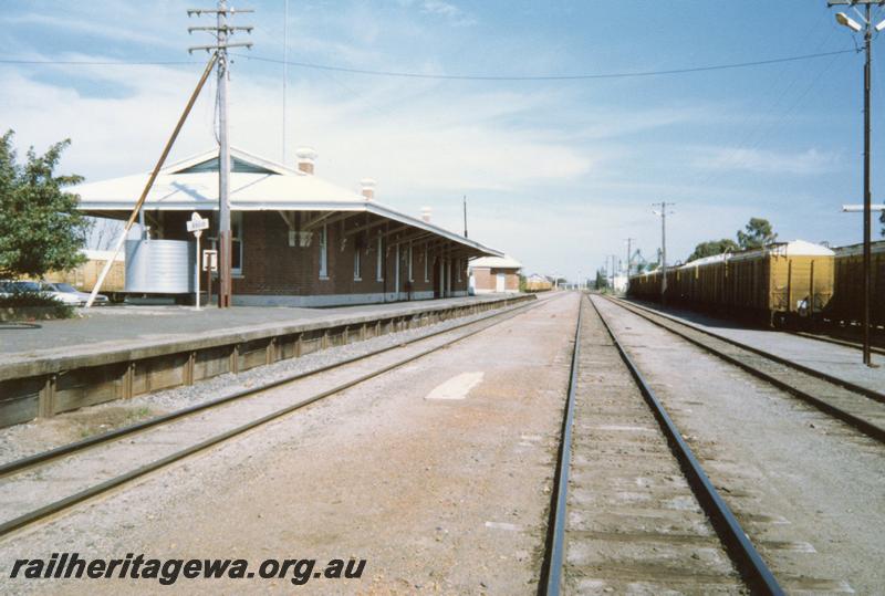
<svg viewBox="0 0 885 596"><path fill-rule="evenodd" d="M332 306L467 294L468 260L502 253L314 176L316 154L298 167L231 149L230 210L235 305ZM86 215L125 220L148 174L80 185ZM218 151L160 170L126 241L126 292L187 294L196 285L196 247L186 222L218 230ZM202 274L201 274L202 275Z"/></svg>

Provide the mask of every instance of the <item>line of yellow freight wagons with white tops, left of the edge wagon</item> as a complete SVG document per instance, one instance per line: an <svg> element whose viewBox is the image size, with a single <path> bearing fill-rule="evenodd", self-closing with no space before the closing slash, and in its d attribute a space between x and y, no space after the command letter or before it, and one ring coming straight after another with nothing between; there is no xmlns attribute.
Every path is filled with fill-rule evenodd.
<svg viewBox="0 0 885 596"><path fill-rule="evenodd" d="M668 304L779 326L818 317L833 297L834 252L796 240L718 254L667 271ZM662 272L631 278L627 294L660 300Z"/></svg>

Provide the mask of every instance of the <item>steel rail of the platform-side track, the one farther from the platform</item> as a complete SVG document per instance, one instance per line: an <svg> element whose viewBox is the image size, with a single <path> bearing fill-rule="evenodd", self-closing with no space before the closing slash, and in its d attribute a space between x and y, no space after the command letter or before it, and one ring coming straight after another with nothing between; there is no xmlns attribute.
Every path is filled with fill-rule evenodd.
<svg viewBox="0 0 885 596"><path fill-rule="evenodd" d="M202 451L205 449L214 447L214 446L216 446L218 443L221 443L221 442L223 442L223 441L226 441L226 440L228 440L228 439L230 439L232 437L236 437L238 435L242 435L243 432L246 432L248 430L251 430L251 429L257 428L259 426L266 425L266 424L268 424L268 422L270 422L272 420L281 418L281 417L283 417L283 416L285 416L288 414L291 414L294 410L303 408L304 406L308 406L310 404L319 401L320 399L323 399L323 398L330 397L330 396L332 396L334 394L341 393L341 391L343 391L345 389L348 389L351 387L354 387L356 385L365 383L366 380L369 380L369 379L375 378L375 377L377 377L379 375L383 375L384 373L387 373L387 372L393 370L395 368L399 368L400 366L404 366L404 365L406 365L408 363L417 360L418 358L427 356L428 354L431 354L434 352L437 352L439 349L448 347L448 346L450 346L452 344L456 344L458 342L467 339L468 337L471 337L471 336L473 336L473 335L476 335L478 333L481 333L481 332L483 332L486 330L489 330L489 328L491 328L491 327L493 327L496 325L499 325L500 323L503 323L506 321L509 321L510 318L513 318L513 317L516 317L516 316L518 316L520 314L523 314L525 309L537 307L537 306L540 306L542 304L549 304L549 302L548 301L543 301L543 302L534 302L533 301L533 302L531 302L529 304L525 304L523 306L518 306L516 309L511 309L511 310L509 310L507 312L503 312L503 313L497 313L493 316L502 317L500 321L496 321L496 322L490 323L488 325L485 325L485 326L482 326L482 327L480 327L478 330L473 330L473 331L470 331L470 332L468 332L468 333L466 333L464 335L455 337L454 339L445 342L445 343L442 343L442 344L440 344L438 346L430 347L428 349L419 352L418 354L414 354L414 355L408 356L408 357L406 357L404 359L397 360L397 362L392 363L389 365L385 365L385 366L383 366L383 367L381 367L381 368L378 368L376 370L373 370L371 373L366 373L365 375L361 375L360 377L357 377L355 379L351 379L348 381L342 383L341 385L337 385L337 386L335 386L335 387L333 387L331 389L326 389L324 391L320 391L320 393L317 393L315 395L312 395L312 396L310 396L310 397L308 397L305 399L302 399L302 400L296 401L294 404L290 404L289 406L287 406L284 408L281 408L279 410L272 411L272 412L270 412L270 414L268 414L266 416L262 416L260 418L257 418L254 420L251 420L249 422L240 425L240 426L238 426L236 428L229 429L229 430L227 430L225 432L221 432L219 435L210 437L210 438L208 438L206 440L202 440L202 441L200 441L198 443L195 443L195 445L191 445L191 446L186 447L184 449L180 449L180 450L178 450L178 451L176 451L174 453L170 453L169 456L166 456L166 457L160 458L158 460L152 461L150 463L146 463L145 466L142 466L142 467L136 468L134 470L129 470L128 472L125 472L125 473L119 474L117 477L111 478L111 479L108 479L108 480L106 480L104 482L101 482L98 484L94 484L92 487L83 489L83 490L81 490L81 491L79 491L79 492L76 492L74 494L65 496L65 498L60 499L58 501L53 501L52 503L49 503L49 504L46 504L46 505L44 505L42 508L35 509L33 511L30 511L28 513L24 513L22 515L13 517L12 520L8 520L8 521L6 521L3 523L0 523L0 536L6 536L7 534L9 534L9 533L11 533L11 532L13 532L15 530L19 530L19 529L21 529L23 526L30 525L30 524L39 521L39 520L42 520L42 519L48 517L50 515L53 515L55 513L59 513L59 512L61 512L61 511L63 511L65 509L69 509L69 508L73 506L73 505L75 505L77 503L81 503L83 501L92 499L93 496L96 496L96 495L102 494L104 492L107 492L108 490L114 489L116 487L119 487L119 485L122 485L122 484L124 484L126 482L129 482L129 481L135 480L137 478L144 477L144 475L146 475L146 474L148 474L150 472L154 472L156 470L159 470L162 468L165 468L166 466L169 466L169 464L171 464L171 463L174 463L176 461L179 461L179 460L181 460L184 458L187 458L188 456L191 456L194 453L197 453L199 451ZM488 317L488 318L491 318L491 316ZM480 322L481 321L486 321L486 318L480 320ZM477 321L473 321L472 323L476 323L476 322ZM451 330L446 330L446 331L451 331ZM426 336L426 337L428 337L428 336ZM403 345L403 344L398 344L395 347L399 347L399 345ZM279 383L274 383L273 385L274 386L279 385Z"/></svg>

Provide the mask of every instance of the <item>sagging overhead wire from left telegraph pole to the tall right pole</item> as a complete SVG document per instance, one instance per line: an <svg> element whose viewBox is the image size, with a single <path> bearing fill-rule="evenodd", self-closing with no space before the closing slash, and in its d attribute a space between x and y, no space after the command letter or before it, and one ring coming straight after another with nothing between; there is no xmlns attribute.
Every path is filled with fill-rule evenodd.
<svg viewBox="0 0 885 596"><path fill-rule="evenodd" d="M563 75L529 75L529 76L504 76L504 75L462 75L462 74L426 74L404 71L373 71L364 69L348 69L345 66L332 66L327 64L314 64L311 62L295 62L285 61L273 57L263 57L247 54L235 54L239 57L247 60L257 60L259 62L272 62L275 64L288 64L290 66L299 66L302 69L313 69L319 71L334 71L351 74L365 74L373 76L396 76L400 79L429 79L441 81L581 81L592 79L636 79L643 76L660 76L669 74L688 74L706 71L725 71L732 69L746 69L750 66L764 66L768 64L780 64L783 62L798 62L801 60L813 60L816 57L826 57L837 54L856 53L856 50L836 50L833 52L819 52L814 54L802 54L795 56L775 57L770 60L757 60L752 62L736 62L730 64L714 64L706 66L690 66L685 69L670 69L663 71L635 71L635 72L620 72L620 73L589 73L589 74L563 74Z"/></svg>

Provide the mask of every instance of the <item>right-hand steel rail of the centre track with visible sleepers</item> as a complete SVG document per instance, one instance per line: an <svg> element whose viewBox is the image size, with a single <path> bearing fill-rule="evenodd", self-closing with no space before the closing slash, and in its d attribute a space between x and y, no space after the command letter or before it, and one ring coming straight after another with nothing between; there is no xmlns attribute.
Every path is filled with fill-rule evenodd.
<svg viewBox="0 0 885 596"><path fill-rule="evenodd" d="M603 326L612 337L612 342L621 354L621 359L624 360L624 364L629 369L643 397L657 419L660 430L670 443L674 456L676 456L676 459L679 461L679 466L683 468L695 496L710 519L716 533L719 535L719 540L722 541L726 551L743 576L745 582L754 594L783 594L783 589L778 584L771 569L769 569L766 562L762 561L756 546L750 542L750 539L735 517L735 514L731 513L731 509L729 509L728 504L712 485L712 482L710 482L710 479L698 462L691 448L685 439L683 439L679 429L667 414L667 410L655 395L650 385L645 380L645 377L643 377L638 367L629 357L596 304L593 303L592 299L587 297L587 300L590 300L593 310L596 311L600 321L602 321Z"/></svg>

